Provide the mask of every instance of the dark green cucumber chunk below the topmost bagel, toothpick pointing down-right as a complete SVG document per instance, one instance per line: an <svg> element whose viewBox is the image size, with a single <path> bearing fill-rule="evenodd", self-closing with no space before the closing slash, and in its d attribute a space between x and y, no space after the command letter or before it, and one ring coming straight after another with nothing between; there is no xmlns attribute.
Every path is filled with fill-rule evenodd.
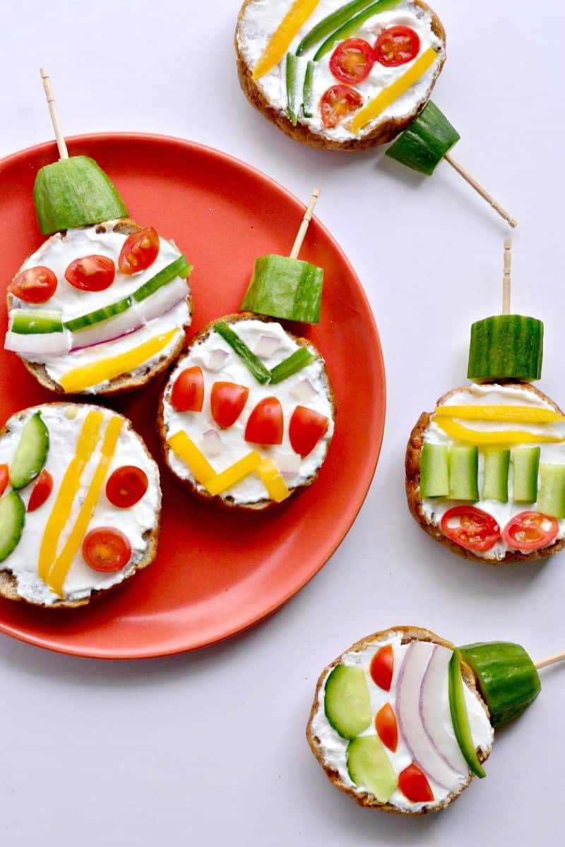
<svg viewBox="0 0 565 847"><path fill-rule="evenodd" d="M386 155L407 168L431 176L460 137L445 114L430 100L388 148Z"/></svg>

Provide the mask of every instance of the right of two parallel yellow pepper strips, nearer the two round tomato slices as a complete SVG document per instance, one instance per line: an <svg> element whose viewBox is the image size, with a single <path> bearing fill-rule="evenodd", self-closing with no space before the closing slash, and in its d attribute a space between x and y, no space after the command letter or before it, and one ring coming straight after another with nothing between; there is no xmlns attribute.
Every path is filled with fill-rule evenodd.
<svg viewBox="0 0 565 847"><path fill-rule="evenodd" d="M114 415L108 421L108 426L104 433L104 439L102 440L102 455L98 461L97 468L91 479L88 491L86 492L85 500L80 507L80 512L76 518L75 526L71 530L63 550L53 563L47 576L47 585L55 591L59 597L63 595L64 580L67 579L69 568L84 540L88 524L91 522L92 514L94 513L97 502L100 499L102 485L104 484L104 479L106 479L110 462L112 462L112 459L114 458L119 433L123 425L124 418L119 418L117 415Z"/></svg>

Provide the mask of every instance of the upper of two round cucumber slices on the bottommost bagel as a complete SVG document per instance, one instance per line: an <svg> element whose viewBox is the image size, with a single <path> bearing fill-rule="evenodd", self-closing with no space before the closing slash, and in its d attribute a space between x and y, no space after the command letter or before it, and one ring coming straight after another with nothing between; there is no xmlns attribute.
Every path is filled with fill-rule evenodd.
<svg viewBox="0 0 565 847"><path fill-rule="evenodd" d="M335 732L354 739L371 722L367 678L361 667L336 665L326 680L325 716Z"/></svg>

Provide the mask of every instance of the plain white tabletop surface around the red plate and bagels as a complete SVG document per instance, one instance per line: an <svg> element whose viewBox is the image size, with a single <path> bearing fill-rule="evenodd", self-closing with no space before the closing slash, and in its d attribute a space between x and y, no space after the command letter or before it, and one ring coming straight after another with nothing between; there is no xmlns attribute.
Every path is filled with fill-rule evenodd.
<svg viewBox="0 0 565 847"><path fill-rule="evenodd" d="M565 668L545 672L535 706L497 736L488 778L437 816L357 808L307 748L319 671L375 629L415 623L459 643L513 639L535 657L565 647L565 556L496 569L459 560L418 529L404 499L410 429L464 382L469 324L499 308L504 224L447 165L420 179L374 152L314 152L275 130L236 80L237 8L237 0L3 4L0 154L51 137L44 64L69 135L184 136L245 159L305 199L321 184L319 217L357 269L384 346L379 468L319 576L228 643L113 663L3 636L0 840L562 844ZM519 221L514 305L545 321L540 387L563 403L562 3L436 0L435 9L449 59L434 99L462 135L457 158Z"/></svg>

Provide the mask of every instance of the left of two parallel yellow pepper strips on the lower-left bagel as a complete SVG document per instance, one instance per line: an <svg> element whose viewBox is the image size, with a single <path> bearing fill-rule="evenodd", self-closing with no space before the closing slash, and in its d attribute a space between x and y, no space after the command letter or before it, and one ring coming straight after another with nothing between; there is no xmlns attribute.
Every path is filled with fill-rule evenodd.
<svg viewBox="0 0 565 847"><path fill-rule="evenodd" d="M69 520L75 496L80 488L80 476L96 449L103 419L102 412L92 411L86 415L76 444L75 456L64 473L57 499L47 519L37 562L37 573L44 582L47 582L48 573L57 557L58 540Z"/></svg>

